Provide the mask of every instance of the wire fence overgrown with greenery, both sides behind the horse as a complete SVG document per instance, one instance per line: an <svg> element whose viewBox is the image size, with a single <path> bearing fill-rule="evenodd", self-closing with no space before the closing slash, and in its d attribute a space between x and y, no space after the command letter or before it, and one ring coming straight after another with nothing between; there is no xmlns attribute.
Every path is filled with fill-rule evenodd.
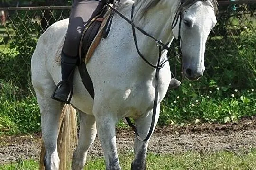
<svg viewBox="0 0 256 170"><path fill-rule="evenodd" d="M198 88L212 84L248 88L256 85L256 1L220 2L218 24L207 42L206 72ZM69 17L70 6L0 8L0 83L25 90L30 84L30 59L37 39ZM179 64L171 68L179 70ZM179 79L183 79L177 76Z"/></svg>

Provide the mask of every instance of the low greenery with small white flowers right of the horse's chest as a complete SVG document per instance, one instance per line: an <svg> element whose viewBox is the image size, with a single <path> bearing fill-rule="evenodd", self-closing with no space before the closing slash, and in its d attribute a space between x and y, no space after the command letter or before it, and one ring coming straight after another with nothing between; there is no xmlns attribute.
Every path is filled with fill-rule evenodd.
<svg viewBox="0 0 256 170"><path fill-rule="evenodd" d="M212 84L215 83L210 81L209 86ZM160 124L227 123L256 114L254 89L238 90L228 86L199 90L197 87L186 81L180 89L169 92L162 102Z"/></svg>

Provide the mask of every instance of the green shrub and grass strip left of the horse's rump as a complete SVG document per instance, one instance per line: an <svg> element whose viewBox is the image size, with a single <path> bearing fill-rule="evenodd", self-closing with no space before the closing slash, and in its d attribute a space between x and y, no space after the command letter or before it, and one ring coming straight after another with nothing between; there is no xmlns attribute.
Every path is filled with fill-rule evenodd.
<svg viewBox="0 0 256 170"><path fill-rule="evenodd" d="M21 11L6 27L12 30L9 53L0 52L0 134L21 134L40 130L37 100L31 94L30 60L40 27L31 25L34 15ZM22 19L20 19L22 18Z"/></svg>

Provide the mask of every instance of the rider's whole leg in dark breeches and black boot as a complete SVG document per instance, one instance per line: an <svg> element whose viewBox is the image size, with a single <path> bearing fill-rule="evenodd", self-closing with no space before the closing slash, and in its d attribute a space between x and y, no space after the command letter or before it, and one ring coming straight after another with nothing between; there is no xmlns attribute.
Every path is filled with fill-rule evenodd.
<svg viewBox="0 0 256 170"><path fill-rule="evenodd" d="M78 61L78 49L85 23L103 8L101 2L94 0L73 0L69 25L61 54L62 81L56 87L52 98L69 103L72 91L73 72ZM86 10L84 10L86 9Z"/></svg>

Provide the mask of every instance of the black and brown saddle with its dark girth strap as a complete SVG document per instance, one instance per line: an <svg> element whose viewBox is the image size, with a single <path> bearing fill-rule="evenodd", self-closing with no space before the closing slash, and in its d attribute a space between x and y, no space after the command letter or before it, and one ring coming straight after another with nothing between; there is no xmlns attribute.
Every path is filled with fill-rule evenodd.
<svg viewBox="0 0 256 170"><path fill-rule="evenodd" d="M86 68L86 64L89 62L93 52L99 45L101 38L107 37L111 26L112 17L113 12L108 10L107 7L104 7L96 17L87 22L80 40L80 64L78 65L78 70L85 88L88 90L93 99L94 89Z"/></svg>

